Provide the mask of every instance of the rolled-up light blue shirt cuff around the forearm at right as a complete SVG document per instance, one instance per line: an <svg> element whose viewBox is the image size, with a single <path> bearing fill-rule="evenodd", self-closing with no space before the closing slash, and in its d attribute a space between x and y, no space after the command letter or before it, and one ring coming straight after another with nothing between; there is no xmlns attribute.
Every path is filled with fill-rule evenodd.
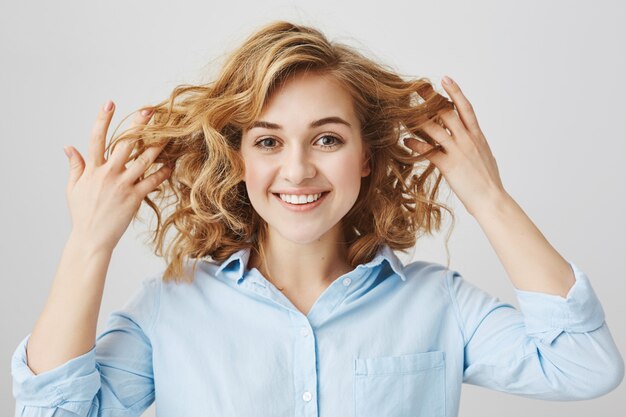
<svg viewBox="0 0 626 417"><path fill-rule="evenodd" d="M565 298L515 289L529 334L542 334L550 344L561 333L586 333L601 327L604 310L587 274L568 261L576 282Z"/></svg>

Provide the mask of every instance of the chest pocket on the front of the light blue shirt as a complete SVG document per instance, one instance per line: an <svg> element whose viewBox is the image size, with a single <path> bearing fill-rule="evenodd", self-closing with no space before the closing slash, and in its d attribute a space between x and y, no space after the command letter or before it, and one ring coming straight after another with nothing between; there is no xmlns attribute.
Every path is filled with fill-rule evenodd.
<svg viewBox="0 0 626 417"><path fill-rule="evenodd" d="M442 351L354 359L355 417L443 417Z"/></svg>

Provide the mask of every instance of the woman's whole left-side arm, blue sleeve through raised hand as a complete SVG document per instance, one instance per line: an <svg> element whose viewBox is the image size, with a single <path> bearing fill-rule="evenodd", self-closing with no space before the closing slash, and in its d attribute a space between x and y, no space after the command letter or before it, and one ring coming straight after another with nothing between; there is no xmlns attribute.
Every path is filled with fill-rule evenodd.
<svg viewBox="0 0 626 417"><path fill-rule="evenodd" d="M105 159L112 116L113 103L108 102L92 130L87 163L78 151L66 149L71 164L66 195L72 233L43 312L12 361L18 415L101 415L109 406L137 411L145 405L143 401L150 400L151 363L146 360L151 360L151 347L141 323L151 317L152 310L141 311L154 303L146 301L131 309L130 314L137 315L134 319L113 316L112 336L104 339L99 350L104 355L123 352L110 361L105 356L102 363L107 366L101 371L96 365L95 333L113 249L145 196L167 178L170 169L161 167L140 180L163 146L148 148L128 168L133 150L129 141L121 142ZM149 113L139 114L133 126L146 123L149 117ZM132 388L124 387L127 381ZM141 401L135 398L137 393Z"/></svg>

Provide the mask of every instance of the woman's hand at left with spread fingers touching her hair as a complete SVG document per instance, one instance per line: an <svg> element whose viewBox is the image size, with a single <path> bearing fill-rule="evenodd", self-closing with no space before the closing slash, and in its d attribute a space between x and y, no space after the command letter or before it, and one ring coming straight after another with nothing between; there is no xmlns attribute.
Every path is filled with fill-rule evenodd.
<svg viewBox="0 0 626 417"><path fill-rule="evenodd" d="M115 107L113 102L107 104L100 108L91 132L87 163L76 148L66 148L70 161L66 196L72 218L72 235L78 235L91 250L112 252L144 197L169 177L171 169L162 166L137 182L163 146L146 149L126 168L132 152L128 141L119 142L109 159L105 160L107 130ZM151 116L151 113L143 115L138 112L133 127L145 125Z"/></svg>

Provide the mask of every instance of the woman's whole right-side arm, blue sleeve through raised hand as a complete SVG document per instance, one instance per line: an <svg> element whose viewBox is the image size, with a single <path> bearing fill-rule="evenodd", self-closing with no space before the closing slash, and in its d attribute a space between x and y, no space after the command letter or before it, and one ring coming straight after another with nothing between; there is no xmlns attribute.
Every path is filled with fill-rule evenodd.
<svg viewBox="0 0 626 417"><path fill-rule="evenodd" d="M476 115L446 82L455 110L422 130L445 152L426 156L476 218L516 287L521 312L451 274L464 336L464 381L544 399L593 398L623 379L624 362L588 278L564 260L506 193ZM419 153L432 146L405 144Z"/></svg>

